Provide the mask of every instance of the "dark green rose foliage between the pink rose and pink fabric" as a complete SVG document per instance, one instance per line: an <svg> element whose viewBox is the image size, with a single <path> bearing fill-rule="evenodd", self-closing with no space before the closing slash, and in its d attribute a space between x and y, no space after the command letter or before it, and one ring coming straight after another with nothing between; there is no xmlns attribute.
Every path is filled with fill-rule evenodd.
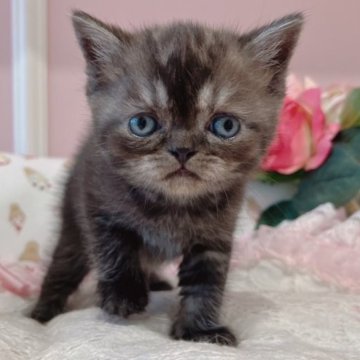
<svg viewBox="0 0 360 360"><path fill-rule="evenodd" d="M360 190L360 127L342 131L336 140L327 161L303 176L294 197L267 208L258 225L275 226L326 202L343 206L356 196Z"/></svg>

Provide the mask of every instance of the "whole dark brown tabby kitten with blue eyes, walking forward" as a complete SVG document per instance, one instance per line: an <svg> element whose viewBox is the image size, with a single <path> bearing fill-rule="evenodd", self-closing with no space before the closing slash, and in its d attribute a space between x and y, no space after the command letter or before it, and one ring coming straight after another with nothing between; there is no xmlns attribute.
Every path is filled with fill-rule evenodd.
<svg viewBox="0 0 360 360"><path fill-rule="evenodd" d="M127 32L75 11L93 126L67 181L62 228L32 317L60 314L90 268L101 307L141 312L180 255L175 339L236 345L219 323L244 185L274 133L302 27L244 35L179 22Z"/></svg>

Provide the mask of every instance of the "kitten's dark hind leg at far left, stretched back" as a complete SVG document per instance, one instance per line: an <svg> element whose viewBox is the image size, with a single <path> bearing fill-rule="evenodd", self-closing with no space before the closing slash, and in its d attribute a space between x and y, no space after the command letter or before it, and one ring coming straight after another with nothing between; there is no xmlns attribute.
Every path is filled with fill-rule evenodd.
<svg viewBox="0 0 360 360"><path fill-rule="evenodd" d="M77 289L89 271L78 231L68 225L62 229L39 300L30 315L41 323L64 311L68 296Z"/></svg>

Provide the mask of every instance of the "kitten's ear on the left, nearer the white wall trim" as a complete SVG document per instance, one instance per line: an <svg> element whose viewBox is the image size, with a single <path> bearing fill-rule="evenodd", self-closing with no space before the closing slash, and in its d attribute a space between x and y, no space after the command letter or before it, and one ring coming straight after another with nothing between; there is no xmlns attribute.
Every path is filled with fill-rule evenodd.
<svg viewBox="0 0 360 360"><path fill-rule="evenodd" d="M117 27L107 25L83 11L72 15L75 34L90 70L96 77L114 76L109 67L119 62L124 45L131 35Z"/></svg>

